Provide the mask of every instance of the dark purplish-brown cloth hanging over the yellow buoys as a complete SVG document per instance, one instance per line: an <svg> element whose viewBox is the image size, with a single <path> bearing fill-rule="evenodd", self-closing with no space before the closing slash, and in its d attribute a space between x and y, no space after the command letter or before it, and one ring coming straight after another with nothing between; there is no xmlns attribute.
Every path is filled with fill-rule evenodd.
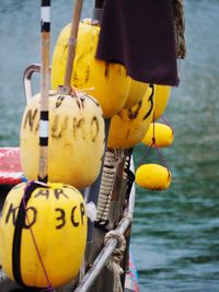
<svg viewBox="0 0 219 292"><path fill-rule="evenodd" d="M96 58L135 80L177 85L172 0L105 0Z"/></svg>

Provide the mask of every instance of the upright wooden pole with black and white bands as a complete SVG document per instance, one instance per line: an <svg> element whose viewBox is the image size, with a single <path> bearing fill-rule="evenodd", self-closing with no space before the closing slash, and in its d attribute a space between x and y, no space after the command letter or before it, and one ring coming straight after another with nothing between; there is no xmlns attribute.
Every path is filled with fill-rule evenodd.
<svg viewBox="0 0 219 292"><path fill-rule="evenodd" d="M41 116L39 116L39 170L38 180L48 180L48 96L49 96L49 49L50 49L50 0L42 0L42 69L41 69Z"/></svg>

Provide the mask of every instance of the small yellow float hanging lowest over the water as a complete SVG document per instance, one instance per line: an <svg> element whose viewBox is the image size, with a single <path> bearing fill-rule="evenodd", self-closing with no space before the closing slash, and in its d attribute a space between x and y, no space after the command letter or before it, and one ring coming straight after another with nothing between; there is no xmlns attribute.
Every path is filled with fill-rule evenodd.
<svg viewBox="0 0 219 292"><path fill-rule="evenodd" d="M159 164L143 164L136 172L136 183L151 190L168 189L171 184L171 172Z"/></svg>

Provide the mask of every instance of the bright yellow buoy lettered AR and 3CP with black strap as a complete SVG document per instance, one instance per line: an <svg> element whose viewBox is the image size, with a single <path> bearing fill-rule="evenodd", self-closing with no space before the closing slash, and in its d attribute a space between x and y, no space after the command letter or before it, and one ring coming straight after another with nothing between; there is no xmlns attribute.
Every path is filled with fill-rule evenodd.
<svg viewBox="0 0 219 292"><path fill-rule="evenodd" d="M56 288L79 272L87 242L85 207L81 194L71 186L37 184L28 185L25 192L30 196L26 218L22 200L26 184L15 186L5 199L0 260L8 277L20 284L46 288L47 275Z"/></svg>

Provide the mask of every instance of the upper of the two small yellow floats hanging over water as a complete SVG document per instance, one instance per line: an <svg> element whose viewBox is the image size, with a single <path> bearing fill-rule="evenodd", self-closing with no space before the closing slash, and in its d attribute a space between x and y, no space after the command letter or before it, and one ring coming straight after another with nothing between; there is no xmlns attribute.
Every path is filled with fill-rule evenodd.
<svg viewBox="0 0 219 292"><path fill-rule="evenodd" d="M173 143L173 130L170 126L160 122L151 122L142 142L148 147L155 145L158 148L164 148ZM153 141L153 139L155 140Z"/></svg>

